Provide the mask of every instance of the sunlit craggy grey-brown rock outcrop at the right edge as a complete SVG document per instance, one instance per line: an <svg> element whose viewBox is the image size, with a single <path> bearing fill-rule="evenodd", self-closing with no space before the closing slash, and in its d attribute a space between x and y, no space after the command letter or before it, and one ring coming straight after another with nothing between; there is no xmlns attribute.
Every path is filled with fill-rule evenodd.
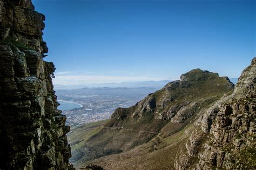
<svg viewBox="0 0 256 170"><path fill-rule="evenodd" d="M177 169L256 168L255 83L256 58L253 58L234 92L218 100L196 121L201 130L191 133L186 153L176 158ZM186 161L182 155L186 155Z"/></svg>

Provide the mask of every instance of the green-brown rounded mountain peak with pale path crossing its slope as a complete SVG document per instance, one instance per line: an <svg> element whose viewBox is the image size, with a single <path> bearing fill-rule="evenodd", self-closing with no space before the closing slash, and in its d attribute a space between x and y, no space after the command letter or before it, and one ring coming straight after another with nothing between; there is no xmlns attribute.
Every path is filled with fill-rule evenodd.
<svg viewBox="0 0 256 170"><path fill-rule="evenodd" d="M149 94L136 105L117 108L110 121L73 152L75 157L71 161L79 165L104 155L129 151L159 135L169 137L224 93L232 91L233 86L228 78L217 73L195 69L183 74L180 80Z"/></svg>

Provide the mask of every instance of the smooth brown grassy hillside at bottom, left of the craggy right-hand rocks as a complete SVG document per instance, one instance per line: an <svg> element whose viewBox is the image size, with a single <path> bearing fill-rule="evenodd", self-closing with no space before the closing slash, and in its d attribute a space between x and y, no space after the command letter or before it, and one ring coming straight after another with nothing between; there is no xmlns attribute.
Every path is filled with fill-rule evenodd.
<svg viewBox="0 0 256 170"><path fill-rule="evenodd" d="M149 142L130 151L80 162L79 167L84 167L85 164L98 164L105 169L174 169L176 154L185 149L189 132L193 128L190 125L185 126L168 137L165 137L165 132L161 132ZM172 133L171 131L169 133Z"/></svg>

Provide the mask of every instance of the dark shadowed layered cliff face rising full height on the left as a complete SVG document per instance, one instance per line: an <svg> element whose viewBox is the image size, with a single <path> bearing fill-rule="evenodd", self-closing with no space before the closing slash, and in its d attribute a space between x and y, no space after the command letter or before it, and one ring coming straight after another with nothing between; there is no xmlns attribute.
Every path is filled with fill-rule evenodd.
<svg viewBox="0 0 256 170"><path fill-rule="evenodd" d="M44 19L31 0L0 0L0 169L72 169Z"/></svg>

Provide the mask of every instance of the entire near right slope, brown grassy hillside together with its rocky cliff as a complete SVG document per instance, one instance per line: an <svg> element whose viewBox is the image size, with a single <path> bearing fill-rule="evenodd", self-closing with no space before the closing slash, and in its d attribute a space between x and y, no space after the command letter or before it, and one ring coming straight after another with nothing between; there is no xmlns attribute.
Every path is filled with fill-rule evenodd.
<svg viewBox="0 0 256 170"><path fill-rule="evenodd" d="M194 113L183 128L170 122L149 142L84 165L93 163L105 169L255 169L255 71L256 58L242 72L233 92Z"/></svg>

